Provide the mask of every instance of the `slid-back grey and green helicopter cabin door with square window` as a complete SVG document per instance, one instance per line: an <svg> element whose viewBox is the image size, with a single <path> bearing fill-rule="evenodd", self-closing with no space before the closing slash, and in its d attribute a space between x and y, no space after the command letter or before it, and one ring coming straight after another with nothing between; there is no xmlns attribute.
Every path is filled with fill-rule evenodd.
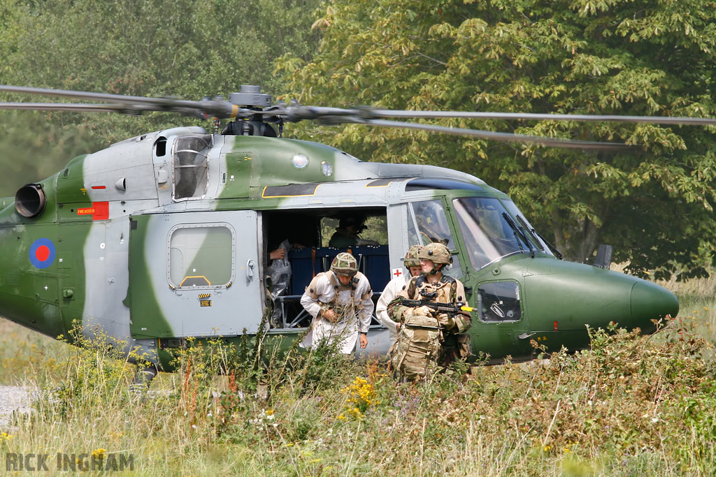
<svg viewBox="0 0 716 477"><path fill-rule="evenodd" d="M128 300L134 338L256 333L263 316L256 212L131 220Z"/></svg>

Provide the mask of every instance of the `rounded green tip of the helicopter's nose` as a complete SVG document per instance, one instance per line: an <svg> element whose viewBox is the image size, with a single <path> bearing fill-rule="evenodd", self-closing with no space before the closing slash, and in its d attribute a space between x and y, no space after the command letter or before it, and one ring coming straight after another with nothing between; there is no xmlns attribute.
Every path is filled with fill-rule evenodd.
<svg viewBox="0 0 716 477"><path fill-rule="evenodd" d="M656 323L652 320L679 313L679 300L672 292L659 285L640 281L632 287L632 320L643 333L653 333Z"/></svg>

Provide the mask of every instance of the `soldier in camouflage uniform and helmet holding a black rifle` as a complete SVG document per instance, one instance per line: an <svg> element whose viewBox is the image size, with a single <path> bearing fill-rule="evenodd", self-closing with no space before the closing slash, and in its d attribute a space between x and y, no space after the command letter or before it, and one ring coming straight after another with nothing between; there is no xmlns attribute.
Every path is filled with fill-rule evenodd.
<svg viewBox="0 0 716 477"><path fill-rule="evenodd" d="M409 332L410 323L416 323L414 330L410 330L410 339L406 336L399 336L396 346L393 350L394 365L397 364L397 370L408 379L415 379L429 375L430 370L416 369L417 363L426 363L429 366L433 361L442 367L448 367L457 360L467 360L470 357L470 337L465 332L470 328L470 314L460 312L454 316L447 313L436 313L427 306L410 308L400 304L400 297L408 300L430 300L439 303L458 303L465 301L465 287L453 277L443 275L442 271L446 265L453 262L450 256L450 250L441 243L430 243L425 245L418 255L420 257L420 265L422 267L422 275L413 277L403 290L398 292L396 299L390 303L388 313L393 320L407 324L403 325L401 335L404 331ZM439 324L437 326L437 338L439 342L437 350L435 340L432 335L427 333L430 330L430 324ZM413 340L413 343L410 343ZM427 343L427 344L425 344ZM425 349L426 355L424 360L420 360L419 356L413 360L412 367L401 363L405 361L405 356L410 358L413 350ZM435 355L437 354L437 355ZM410 364L410 363L408 363Z"/></svg>

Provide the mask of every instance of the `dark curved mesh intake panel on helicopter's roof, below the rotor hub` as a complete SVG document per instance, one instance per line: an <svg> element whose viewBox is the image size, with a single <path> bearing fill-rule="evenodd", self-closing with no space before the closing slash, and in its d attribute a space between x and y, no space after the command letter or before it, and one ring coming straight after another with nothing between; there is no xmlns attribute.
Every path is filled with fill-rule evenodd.
<svg viewBox="0 0 716 477"><path fill-rule="evenodd" d="M174 143L174 200L200 199L208 185L211 134L178 137Z"/></svg>

